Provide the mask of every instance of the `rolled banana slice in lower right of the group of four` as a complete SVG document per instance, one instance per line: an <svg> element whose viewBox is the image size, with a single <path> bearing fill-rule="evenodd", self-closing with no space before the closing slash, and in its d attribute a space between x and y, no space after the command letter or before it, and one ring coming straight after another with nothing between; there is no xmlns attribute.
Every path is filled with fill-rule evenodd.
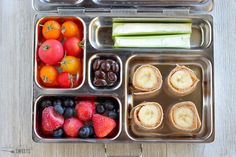
<svg viewBox="0 0 236 157"><path fill-rule="evenodd" d="M177 103L170 109L169 120L178 130L193 132L201 127L198 111L193 102Z"/></svg>

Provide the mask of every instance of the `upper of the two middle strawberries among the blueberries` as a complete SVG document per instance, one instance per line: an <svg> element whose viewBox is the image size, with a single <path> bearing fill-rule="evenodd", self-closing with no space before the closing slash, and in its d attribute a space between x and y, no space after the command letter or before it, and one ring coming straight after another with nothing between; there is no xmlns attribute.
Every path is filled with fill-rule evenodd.
<svg viewBox="0 0 236 157"><path fill-rule="evenodd" d="M88 121L95 113L94 101L80 101L75 107L77 117L82 121Z"/></svg>

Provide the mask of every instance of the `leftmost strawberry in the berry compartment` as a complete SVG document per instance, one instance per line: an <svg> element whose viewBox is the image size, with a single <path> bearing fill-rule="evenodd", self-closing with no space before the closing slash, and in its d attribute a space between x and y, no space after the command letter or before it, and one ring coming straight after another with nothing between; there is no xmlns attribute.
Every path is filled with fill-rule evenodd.
<svg viewBox="0 0 236 157"><path fill-rule="evenodd" d="M58 114L52 106L46 107L42 112L42 129L51 132L60 128L64 123L64 117Z"/></svg>

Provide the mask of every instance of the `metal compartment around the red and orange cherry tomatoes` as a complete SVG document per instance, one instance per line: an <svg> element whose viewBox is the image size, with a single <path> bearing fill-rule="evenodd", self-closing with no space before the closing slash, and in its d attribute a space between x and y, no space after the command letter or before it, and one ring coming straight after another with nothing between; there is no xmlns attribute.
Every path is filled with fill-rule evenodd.
<svg viewBox="0 0 236 157"><path fill-rule="evenodd" d="M82 52L79 54L79 56L73 56L73 60L74 61L76 60L76 62L78 63L78 68L75 69L78 72L76 74L71 74L71 72L68 72L71 74L70 76L72 76L71 77L72 80L70 80L70 82L73 82L73 83L71 83L71 88L61 88L59 86L59 84L57 83L57 81L54 81L54 83L45 84L42 81L42 78L40 77L40 69L42 67L44 67L45 65L48 65L48 64L44 63L39 57L40 46L43 44L43 42L48 41L43 36L43 32L42 32L43 28L42 27L43 27L43 24L45 24L47 21L50 21L50 20L54 20L54 21L58 22L60 25L62 25L63 22L65 22L65 21L72 21L77 25L77 27L79 28L79 31L82 32L82 34L75 36L75 37L78 37L78 39L81 40L81 42L83 42L82 44L84 45L84 49L82 49ZM65 51L65 48L63 45L63 43L65 42L66 39L68 39L68 37L63 36L62 33L60 33L60 37L58 39L56 39L63 46L63 52L64 52L63 59L66 56L72 56L72 55L66 55L67 52ZM76 59L74 59L74 58L76 58ZM69 58L67 58L67 59L68 59L68 63L69 63L69 61L72 61L72 60L69 60ZM57 77L58 77L58 74L63 72L63 70L60 66L60 63L62 61L63 60L61 59L58 62L58 65L52 65L57 71L57 75L56 75ZM68 64L65 66L68 66ZM35 24L35 39L34 39L34 81L35 81L36 85L39 88L46 89L46 90L48 90L48 89L49 90L52 90L52 89L56 89L56 90L79 89L85 81L85 70L86 70L85 67L86 67L86 27L85 27L85 22L83 21L83 19L81 19L79 17L74 17L74 16L45 16L45 17L38 19ZM72 67L72 69L73 69L73 67ZM44 75L46 75L46 74L47 73L45 73Z"/></svg>

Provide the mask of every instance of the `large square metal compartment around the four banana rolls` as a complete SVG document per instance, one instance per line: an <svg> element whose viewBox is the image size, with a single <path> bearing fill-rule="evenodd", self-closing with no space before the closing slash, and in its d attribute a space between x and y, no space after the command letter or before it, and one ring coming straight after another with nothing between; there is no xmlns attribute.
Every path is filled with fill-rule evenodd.
<svg viewBox="0 0 236 157"><path fill-rule="evenodd" d="M189 52L190 53L190 52ZM199 52L200 53L200 52ZM139 95L133 93L131 77L137 67L151 64L159 68L163 85L161 91L151 95ZM192 69L200 82L191 94L183 97L172 97L164 92L164 80L176 65L185 65ZM204 141L213 134L213 102L212 102L212 65L211 62L201 55L189 54L139 54L128 58L125 67L126 80L126 105L125 105L125 131L134 141ZM167 113L170 107L178 102L192 101L196 104L202 125L199 131L192 134L182 134L170 127ZM158 102L164 113L163 125L156 130L143 130L134 124L130 111L142 102Z"/></svg>

